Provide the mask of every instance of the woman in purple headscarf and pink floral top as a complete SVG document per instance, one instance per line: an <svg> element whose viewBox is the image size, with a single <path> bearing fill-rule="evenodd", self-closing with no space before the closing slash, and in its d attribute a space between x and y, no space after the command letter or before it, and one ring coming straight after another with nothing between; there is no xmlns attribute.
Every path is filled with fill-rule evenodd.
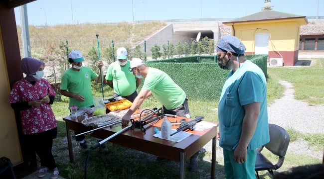
<svg viewBox="0 0 324 179"><path fill-rule="evenodd" d="M20 69L26 77L13 85L8 102L14 110L20 111L23 139L40 158L37 176L44 177L48 168L53 171L50 179L57 179L59 173L52 155L57 123L50 106L56 93L49 82L42 79L44 67L45 63L37 59L23 58Z"/></svg>

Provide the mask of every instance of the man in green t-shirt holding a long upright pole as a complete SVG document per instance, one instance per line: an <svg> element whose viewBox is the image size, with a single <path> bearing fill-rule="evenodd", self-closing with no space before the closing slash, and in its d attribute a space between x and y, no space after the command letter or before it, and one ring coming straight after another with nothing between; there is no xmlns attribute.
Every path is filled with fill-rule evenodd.
<svg viewBox="0 0 324 179"><path fill-rule="evenodd" d="M80 51L73 50L69 54L69 63L72 65L70 69L63 73L61 79L60 93L69 97L69 107L93 107L93 95L91 90L91 80L101 83L102 77L98 76L90 68L82 66L84 61ZM103 66L101 60L98 61L98 67ZM99 70L100 74L100 70ZM74 131L75 135L81 132ZM88 153L90 150L87 147L84 135L77 136L76 141L80 143L81 152ZM97 139L98 142L101 139ZM108 149L105 144L100 146L103 153L107 153Z"/></svg>

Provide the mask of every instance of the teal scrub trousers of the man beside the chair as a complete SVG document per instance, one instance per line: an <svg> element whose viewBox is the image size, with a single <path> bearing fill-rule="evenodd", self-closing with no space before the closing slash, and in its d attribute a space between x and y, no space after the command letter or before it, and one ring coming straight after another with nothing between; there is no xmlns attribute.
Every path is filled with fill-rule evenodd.
<svg viewBox="0 0 324 179"><path fill-rule="evenodd" d="M256 179L254 168L257 154L255 150L247 152L246 162L238 164L233 161L234 151L223 149L225 179Z"/></svg>

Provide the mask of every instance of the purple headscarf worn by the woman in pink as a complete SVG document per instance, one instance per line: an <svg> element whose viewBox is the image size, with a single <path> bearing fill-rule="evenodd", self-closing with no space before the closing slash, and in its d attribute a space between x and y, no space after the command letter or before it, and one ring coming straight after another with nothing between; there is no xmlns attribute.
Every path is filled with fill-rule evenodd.
<svg viewBox="0 0 324 179"><path fill-rule="evenodd" d="M20 69L26 74L25 79L29 82L36 82L37 80L32 76L38 71L40 66L45 67L45 63L31 57L21 59Z"/></svg>

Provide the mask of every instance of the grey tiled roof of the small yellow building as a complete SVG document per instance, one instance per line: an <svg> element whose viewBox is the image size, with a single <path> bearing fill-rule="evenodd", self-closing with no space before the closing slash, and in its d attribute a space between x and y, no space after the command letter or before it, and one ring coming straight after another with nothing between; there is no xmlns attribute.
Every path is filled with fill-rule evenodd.
<svg viewBox="0 0 324 179"><path fill-rule="evenodd" d="M238 19L230 20L224 23L232 23L232 22L246 22L246 21L261 21L261 20L273 20L273 19L286 19L286 18L300 18L306 16L295 15L285 12L279 12L275 10L263 10L261 12L257 12L251 15L247 15Z"/></svg>

